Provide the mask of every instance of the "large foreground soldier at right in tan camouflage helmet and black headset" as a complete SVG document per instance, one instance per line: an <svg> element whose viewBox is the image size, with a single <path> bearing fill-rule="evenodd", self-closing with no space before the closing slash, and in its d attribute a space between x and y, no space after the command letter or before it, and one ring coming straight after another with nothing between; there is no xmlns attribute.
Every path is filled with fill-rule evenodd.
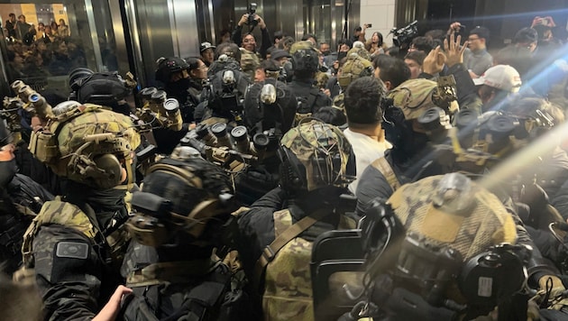
<svg viewBox="0 0 568 321"><path fill-rule="evenodd" d="M407 184L388 200L373 202L362 223L367 279L362 302L368 308L357 305L351 315L471 320L499 306L499 320L527 319L527 301L524 307L511 303L526 290L532 249L518 244L511 213L499 197L451 173Z"/></svg>

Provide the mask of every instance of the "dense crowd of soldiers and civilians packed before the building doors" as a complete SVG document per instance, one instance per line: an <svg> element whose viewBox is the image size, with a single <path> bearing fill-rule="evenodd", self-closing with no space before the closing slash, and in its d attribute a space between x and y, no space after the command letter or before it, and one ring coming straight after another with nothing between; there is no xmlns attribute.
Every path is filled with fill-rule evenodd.
<svg viewBox="0 0 568 321"><path fill-rule="evenodd" d="M157 60L136 106L116 73L74 69L53 107L14 82L0 254L41 297L23 319L568 319L554 20L495 56L483 27L400 48L368 27L332 52L243 14Z"/></svg>

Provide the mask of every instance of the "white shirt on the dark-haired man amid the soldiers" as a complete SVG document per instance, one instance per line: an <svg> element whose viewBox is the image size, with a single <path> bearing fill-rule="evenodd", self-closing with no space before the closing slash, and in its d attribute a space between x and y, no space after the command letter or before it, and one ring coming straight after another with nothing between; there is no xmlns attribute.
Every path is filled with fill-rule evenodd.
<svg viewBox="0 0 568 321"><path fill-rule="evenodd" d="M349 128L344 130L345 138L351 143L357 166L357 179L349 184L349 190L355 194L357 190L358 179L361 177L363 170L371 164L371 162L384 156L385 151L392 148L392 144L386 140L377 142L371 137L363 133L354 133Z"/></svg>

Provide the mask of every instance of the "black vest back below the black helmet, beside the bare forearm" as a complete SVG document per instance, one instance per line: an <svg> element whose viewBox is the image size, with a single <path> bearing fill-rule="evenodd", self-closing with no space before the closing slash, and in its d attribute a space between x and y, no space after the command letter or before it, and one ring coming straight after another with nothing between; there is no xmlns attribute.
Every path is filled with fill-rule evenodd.
<svg viewBox="0 0 568 321"><path fill-rule="evenodd" d="M168 320L216 320L224 301L238 303L243 299L238 291L231 291L232 273L221 261L194 260L171 261L150 264L133 271L126 286L133 288L133 295L123 305L125 321L158 321L160 305L173 305ZM175 284L174 293L164 294L160 284ZM180 288L186 284L187 288ZM231 292L231 293L229 293ZM227 299L232 298L232 299Z"/></svg>

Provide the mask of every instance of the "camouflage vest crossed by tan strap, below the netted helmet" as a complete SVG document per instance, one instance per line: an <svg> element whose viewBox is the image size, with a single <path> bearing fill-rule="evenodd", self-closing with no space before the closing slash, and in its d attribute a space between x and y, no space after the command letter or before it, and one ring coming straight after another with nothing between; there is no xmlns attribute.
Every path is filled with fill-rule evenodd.
<svg viewBox="0 0 568 321"><path fill-rule="evenodd" d="M292 223L289 209L274 212L275 238ZM337 229L353 229L355 222L340 216ZM313 320L312 278L309 262L312 243L296 237L289 241L266 266L262 310L265 320Z"/></svg>

